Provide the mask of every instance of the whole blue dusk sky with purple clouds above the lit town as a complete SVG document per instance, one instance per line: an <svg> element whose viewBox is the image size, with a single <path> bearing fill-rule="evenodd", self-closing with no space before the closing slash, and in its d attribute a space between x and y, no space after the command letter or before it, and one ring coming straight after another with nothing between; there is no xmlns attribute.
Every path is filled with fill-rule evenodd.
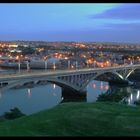
<svg viewBox="0 0 140 140"><path fill-rule="evenodd" d="M0 40L140 43L140 3L1 3Z"/></svg>

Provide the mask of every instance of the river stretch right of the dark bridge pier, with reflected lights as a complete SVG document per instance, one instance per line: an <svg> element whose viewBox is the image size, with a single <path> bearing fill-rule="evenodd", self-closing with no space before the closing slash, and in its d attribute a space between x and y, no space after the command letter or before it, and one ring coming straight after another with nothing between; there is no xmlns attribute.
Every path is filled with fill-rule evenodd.
<svg viewBox="0 0 140 140"><path fill-rule="evenodd" d="M128 93L123 99L128 105L134 105L134 102L140 100L140 89L132 87L109 86L108 82L93 80L87 86L87 102L95 102L102 93Z"/></svg>

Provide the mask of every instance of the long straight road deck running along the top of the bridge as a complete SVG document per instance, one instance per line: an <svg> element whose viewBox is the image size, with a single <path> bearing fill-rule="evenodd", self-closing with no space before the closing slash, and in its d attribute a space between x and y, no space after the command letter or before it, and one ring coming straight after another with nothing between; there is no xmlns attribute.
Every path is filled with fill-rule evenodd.
<svg viewBox="0 0 140 140"><path fill-rule="evenodd" d="M115 67L105 67L105 68L82 68L82 69L73 69L73 70L53 70L53 71L38 71L38 72L26 72L26 73L16 73L16 74L4 74L0 75L0 81L7 80L18 80L18 79L27 79L34 77L42 77L42 76L65 76L71 74L79 74L79 73L90 73L90 72L99 72L99 71L113 71L113 70L122 70L122 69L135 69L140 68L140 64L136 65L122 65Z"/></svg>

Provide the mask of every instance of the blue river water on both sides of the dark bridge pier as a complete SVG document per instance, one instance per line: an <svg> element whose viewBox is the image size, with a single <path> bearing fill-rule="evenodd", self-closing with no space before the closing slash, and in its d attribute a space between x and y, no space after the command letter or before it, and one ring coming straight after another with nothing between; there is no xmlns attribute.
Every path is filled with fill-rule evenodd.
<svg viewBox="0 0 140 140"><path fill-rule="evenodd" d="M134 89L132 87L110 87L108 82L93 80L86 87L86 96L83 101L95 102L99 94L105 92L111 94L114 91L122 90L130 93L130 96L127 98L129 105L133 105L135 100L139 100L140 89ZM53 108L66 98L63 95L62 88L51 83L30 88L8 89L6 91L2 91L1 89L0 115L10 111L14 107L18 107L26 115Z"/></svg>

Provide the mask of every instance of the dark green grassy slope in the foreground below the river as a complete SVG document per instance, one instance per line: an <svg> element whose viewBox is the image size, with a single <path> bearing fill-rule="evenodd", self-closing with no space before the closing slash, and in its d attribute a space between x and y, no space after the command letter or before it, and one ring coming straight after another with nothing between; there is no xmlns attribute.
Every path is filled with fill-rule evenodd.
<svg viewBox="0 0 140 140"><path fill-rule="evenodd" d="M117 103L63 103L0 122L0 136L140 136L140 107Z"/></svg>

